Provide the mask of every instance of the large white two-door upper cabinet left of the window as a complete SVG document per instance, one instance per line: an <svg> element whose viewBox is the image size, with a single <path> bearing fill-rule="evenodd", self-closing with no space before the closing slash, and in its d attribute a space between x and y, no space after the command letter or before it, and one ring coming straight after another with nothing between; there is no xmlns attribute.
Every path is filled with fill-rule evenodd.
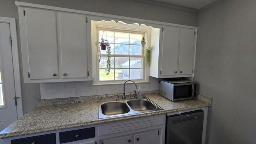
<svg viewBox="0 0 256 144"><path fill-rule="evenodd" d="M19 6L19 20L25 83L92 80L84 14Z"/></svg>

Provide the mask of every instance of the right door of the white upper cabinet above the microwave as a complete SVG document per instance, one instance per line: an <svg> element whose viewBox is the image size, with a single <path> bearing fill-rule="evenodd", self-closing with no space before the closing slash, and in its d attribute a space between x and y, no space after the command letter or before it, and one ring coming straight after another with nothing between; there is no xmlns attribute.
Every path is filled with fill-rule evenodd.
<svg viewBox="0 0 256 144"><path fill-rule="evenodd" d="M195 30L180 29L178 74L192 74L194 70Z"/></svg>

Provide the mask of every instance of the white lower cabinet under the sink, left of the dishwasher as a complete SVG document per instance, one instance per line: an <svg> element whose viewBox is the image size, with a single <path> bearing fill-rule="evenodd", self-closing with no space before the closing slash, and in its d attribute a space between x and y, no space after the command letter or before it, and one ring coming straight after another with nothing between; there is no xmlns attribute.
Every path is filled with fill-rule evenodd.
<svg viewBox="0 0 256 144"><path fill-rule="evenodd" d="M100 144L164 144L166 115L111 122L98 126Z"/></svg>

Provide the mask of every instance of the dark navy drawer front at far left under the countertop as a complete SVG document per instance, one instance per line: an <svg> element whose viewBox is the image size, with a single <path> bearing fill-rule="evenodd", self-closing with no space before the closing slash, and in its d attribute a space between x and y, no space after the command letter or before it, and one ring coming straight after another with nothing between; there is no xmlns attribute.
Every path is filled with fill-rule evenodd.
<svg viewBox="0 0 256 144"><path fill-rule="evenodd" d="M56 144L55 133L11 140L11 144Z"/></svg>

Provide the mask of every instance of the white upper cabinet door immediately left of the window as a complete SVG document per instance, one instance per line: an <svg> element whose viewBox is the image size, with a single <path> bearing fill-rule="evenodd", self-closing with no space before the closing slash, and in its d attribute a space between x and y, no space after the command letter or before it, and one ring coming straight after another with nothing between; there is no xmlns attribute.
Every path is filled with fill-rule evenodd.
<svg viewBox="0 0 256 144"><path fill-rule="evenodd" d="M87 78L86 16L60 12L62 78Z"/></svg>

